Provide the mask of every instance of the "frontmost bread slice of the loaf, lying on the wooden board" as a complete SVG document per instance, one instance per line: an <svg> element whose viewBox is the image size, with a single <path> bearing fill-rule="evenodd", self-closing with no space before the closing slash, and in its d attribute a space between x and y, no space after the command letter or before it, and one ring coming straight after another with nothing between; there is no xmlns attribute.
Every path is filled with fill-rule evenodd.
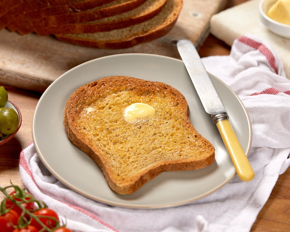
<svg viewBox="0 0 290 232"><path fill-rule="evenodd" d="M119 49L148 42L168 33L174 26L182 8L182 0L168 0L152 19L122 29L108 32L55 34L61 41L81 46Z"/></svg>

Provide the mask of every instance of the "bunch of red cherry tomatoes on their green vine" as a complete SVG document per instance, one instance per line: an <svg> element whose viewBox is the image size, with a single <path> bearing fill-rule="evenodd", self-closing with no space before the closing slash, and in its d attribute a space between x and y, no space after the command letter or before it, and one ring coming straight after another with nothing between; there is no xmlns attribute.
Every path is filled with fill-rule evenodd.
<svg viewBox="0 0 290 232"><path fill-rule="evenodd" d="M10 188L14 191L9 194L7 189ZM35 199L25 188L11 183L4 188L0 186L0 191L5 195L0 204L0 226L5 227L5 232L53 232L65 228L57 213L43 201ZM65 231L72 232L67 228Z"/></svg>

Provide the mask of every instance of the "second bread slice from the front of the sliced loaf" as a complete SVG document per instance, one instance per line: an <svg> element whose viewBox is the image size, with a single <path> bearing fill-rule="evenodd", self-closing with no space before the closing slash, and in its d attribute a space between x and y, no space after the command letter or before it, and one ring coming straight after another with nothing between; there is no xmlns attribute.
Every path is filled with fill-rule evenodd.
<svg viewBox="0 0 290 232"><path fill-rule="evenodd" d="M151 19L162 10L166 1L147 0L141 6L122 14L85 23L70 23L56 27L38 27L34 28L34 31L39 35L47 36L59 33L93 33L125 28Z"/></svg>

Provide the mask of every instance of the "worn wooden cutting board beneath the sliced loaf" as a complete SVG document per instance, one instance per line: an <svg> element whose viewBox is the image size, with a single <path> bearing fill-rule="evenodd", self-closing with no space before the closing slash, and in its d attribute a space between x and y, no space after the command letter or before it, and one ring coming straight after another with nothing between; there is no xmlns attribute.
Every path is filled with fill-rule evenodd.
<svg viewBox="0 0 290 232"><path fill-rule="evenodd" d="M98 57L151 53L180 59L176 41L190 39L197 48L202 45L209 35L211 16L224 9L226 3L226 0L184 0L180 16L167 35L127 49L87 48L58 41L52 36L21 36L16 32L1 30L0 83L43 92L69 69Z"/></svg>

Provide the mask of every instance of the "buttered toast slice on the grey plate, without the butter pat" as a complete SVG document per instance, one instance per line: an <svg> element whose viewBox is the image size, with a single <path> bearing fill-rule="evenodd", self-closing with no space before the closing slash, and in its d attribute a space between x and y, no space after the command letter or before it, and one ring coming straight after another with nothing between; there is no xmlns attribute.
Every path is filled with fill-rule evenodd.
<svg viewBox="0 0 290 232"><path fill-rule="evenodd" d="M156 115L127 121L124 109L136 102L152 106ZM64 127L119 194L131 194L165 171L204 168L215 157L213 145L189 121L184 96L161 82L113 76L81 86L67 101Z"/></svg>

